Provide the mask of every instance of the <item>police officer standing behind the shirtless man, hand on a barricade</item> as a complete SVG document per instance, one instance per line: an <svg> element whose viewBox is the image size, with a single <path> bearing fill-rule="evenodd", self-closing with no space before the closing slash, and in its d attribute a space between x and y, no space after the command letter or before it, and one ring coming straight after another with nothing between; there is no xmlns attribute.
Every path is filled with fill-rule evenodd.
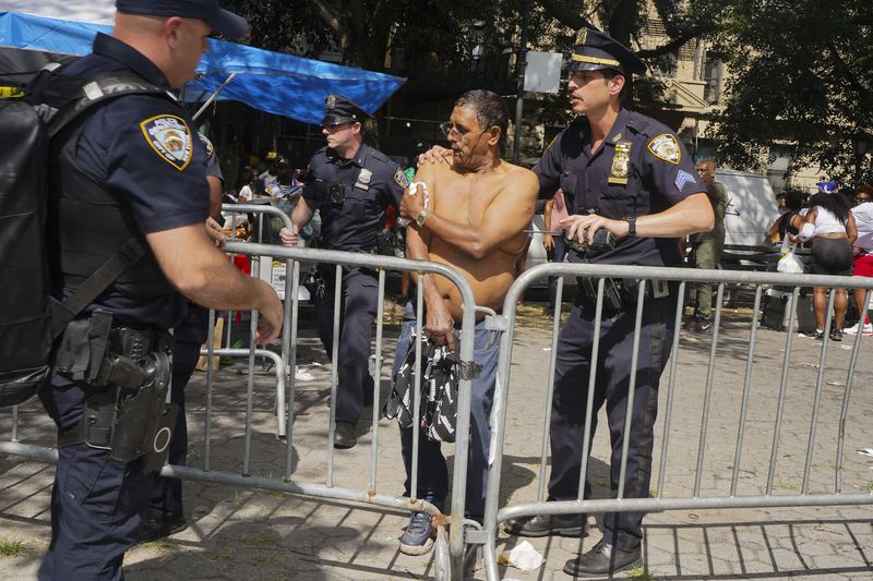
<svg viewBox="0 0 873 581"><path fill-rule="evenodd" d="M327 145L315 152L309 162L303 197L291 216L294 231L283 228L282 240L296 245L298 232L318 209L322 220L320 247L371 253L385 223L385 208L399 208L406 174L384 154L363 143L361 123L370 118L367 111L339 95L327 97L326 106L322 133ZM357 444L355 423L361 408L372 404L373 378L368 360L378 279L372 270L346 268L343 288L335 289L334 269L322 273L315 315L319 337L328 355L334 341L334 293L343 293L334 446L351 448Z"/></svg>

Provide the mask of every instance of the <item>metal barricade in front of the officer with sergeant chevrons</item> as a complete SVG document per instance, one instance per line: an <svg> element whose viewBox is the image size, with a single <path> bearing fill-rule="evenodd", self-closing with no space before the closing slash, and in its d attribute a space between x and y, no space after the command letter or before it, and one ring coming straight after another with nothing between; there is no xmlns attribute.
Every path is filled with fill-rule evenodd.
<svg viewBox="0 0 873 581"><path fill-rule="evenodd" d="M543 433L541 441L541 458L539 465L539 487L537 493L537 501L518 504L515 506L501 507L499 506L500 485L501 485L501 470L503 462L504 441L506 438L506 403L511 385L511 363L512 363L512 349L513 336L516 327L516 301L522 296L525 288L533 281L546 277L558 276L558 289L555 299L555 315L552 327L552 342L551 342L551 360L549 362L549 377L548 377L548 396L546 401L546 413L543 417ZM583 452L581 458L581 479L578 495L575 500L562 501L543 501L546 488L546 465L548 460L548 437L549 437L549 422L551 413L551 399L554 389L554 373L555 373L555 356L558 348L558 337L561 316L561 301L564 286L563 277L590 277L597 280L597 301L595 311L595 342L591 349L590 361L598 361L598 349L600 346L600 320L603 312L603 291L605 278L613 279L632 279L638 281L638 288L635 291L636 304L631 308L635 311L635 327L634 327L634 342L633 342L633 359L630 368L630 386L627 397L627 409L625 413L624 432L629 433L630 422L632 417L633 406L633 391L636 385L637 374L637 359L641 349L639 335L641 322L644 306L644 296L646 286L653 281L675 281L678 282L678 292L680 300L675 311L673 324L677 330L673 336L671 346L671 356L665 368L666 377L661 378L661 386L665 382L667 388L667 402L666 402L666 417L660 425L656 424L656 434L660 429L662 433L660 453L654 450L653 458L653 483L654 475L658 474L657 488L650 493L648 498L624 498L624 481L627 464L627 450L629 438L624 438L620 476L619 476L619 493L617 498L608 499L585 499L584 486L586 475L589 470L589 452L591 450L591 440L588 426L591 422L591 415L595 413L593 410L594 387L597 382L596 370L593 370L589 375L588 384L588 399L585 415L585 425L583 427ZM675 283L674 282L674 283ZM695 469L693 471L693 483L689 483L689 487L679 494L665 494L665 475L666 465L669 453L669 436L670 436L670 420L673 408L674 398L677 398L677 360L682 356L680 344L679 327L683 318L684 302L681 300L685 293L687 282L709 282L714 288L717 288L717 300L714 301L714 323L711 332L711 346L709 349L708 367L705 375L705 390L702 404L702 416L699 419L699 436L697 441L697 455ZM732 474L730 479L730 491L727 494L706 495L702 494L702 479L704 476L704 458L707 453L707 432L710 420L710 408L714 399L714 370L717 361L717 353L719 347L719 328L722 325L722 298L727 285L743 285L746 288L754 289L754 311L750 320L748 353L744 362L744 374L742 375L742 400L739 402L739 425L737 426L737 441L732 450L732 456L729 460L732 462ZM743 437L746 432L746 424L750 415L750 397L755 395L752 392L752 374L755 364L755 343L757 340L758 331L758 313L762 306L762 295L766 286L789 287L793 289L789 299L788 308L790 310L790 319L788 324L788 332L786 335L785 358L781 364L781 374L778 388L778 400L776 404L776 414L773 419L773 439L769 446L769 453L762 451L760 456L768 457L768 468L766 471L766 484L763 482L754 489L754 494L741 494L739 489L739 476L741 459L744 451ZM835 298L835 289L844 288L849 289L849 300L851 299L851 289L860 288L865 291L864 306L860 313L860 327L863 327L864 317L868 314L868 304L871 298L871 290L873 290L872 278L861 277L834 277L834 276L814 276L814 275L782 275L782 274L765 274L765 273L750 273L750 271L730 271L730 270L701 270L687 268L653 268L653 267L631 267L631 266L615 266L615 265L591 265L591 264L543 264L531 268L524 273L511 287L506 294L503 306L503 326L505 332L502 338L500 363L498 367L497 390L494 394L494 404L491 416L491 424L494 433L492 435L492 449L490 450L489 458L492 463L489 467L488 487L487 487L487 501L485 511L485 523L481 533L470 536L471 542L485 545L485 565L486 574L489 580L498 580L499 569L495 553L498 525L507 519L523 516L534 515L574 515L574 513L593 513L593 512L618 512L618 511L665 511L678 509L729 509L729 508L765 508L765 507L811 507L811 506L837 506L837 505L870 505L873 504L873 495L864 493L845 493L842 485L842 463L844 463L844 447L846 444L846 429L847 416L849 415L850 396L852 390L856 364L858 362L862 332L859 330L857 337L851 346L851 354L849 356L848 368L846 370L846 383L841 396L841 407L835 410L838 412L838 417L823 419L820 414L822 408L822 392L824 385L825 370L827 367L828 343L829 338L825 334L821 355L817 365L817 373L812 398L812 411L810 414L809 423L800 422L799 429L805 431L808 436L805 439L805 457L802 465L802 476L800 482L792 485L799 491L799 494L778 494L774 493L774 480L776 474L777 460L779 459L780 434L786 431L786 396L789 389L789 373L791 371L791 352L794 341L794 329L797 322L797 312L794 305L798 304L799 293L801 288L806 287L825 287L830 289L828 293L827 316L825 329L830 327L833 316L833 304ZM847 336L849 338L849 336ZM737 362L740 366L740 362ZM740 377L737 374L737 377ZM834 384L828 384L834 385ZM723 412L722 412L723 413ZM794 424L798 425L798 424ZM794 427L794 426L792 426ZM682 429L682 427L673 428ZM830 450L835 457L833 487L827 486L825 492L811 489L811 475L813 468L813 452L815 450L816 432L830 429L837 431L836 434L836 449ZM857 434L856 434L857 435ZM797 441L797 440L796 440ZM746 443L748 444L748 443ZM803 441L789 443L791 445L801 446ZM824 452L820 452L824 453ZM802 456L802 455L799 455ZM797 468L798 475L800 468ZM763 476L763 475L762 475ZM763 481L763 477L762 477ZM816 481L817 486L822 486L821 479ZM684 483L683 483L684 485ZM746 487L749 487L746 485Z"/></svg>

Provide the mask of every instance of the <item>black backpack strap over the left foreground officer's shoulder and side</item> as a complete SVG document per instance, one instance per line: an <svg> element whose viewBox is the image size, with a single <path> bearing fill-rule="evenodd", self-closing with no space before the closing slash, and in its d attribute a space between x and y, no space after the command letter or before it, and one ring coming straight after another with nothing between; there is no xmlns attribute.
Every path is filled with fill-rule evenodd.
<svg viewBox="0 0 873 581"><path fill-rule="evenodd" d="M44 84L45 83L45 84ZM75 86L73 90L71 86ZM125 95L164 95L172 98L169 93L160 87L143 81L131 74L107 74L92 81L73 80L59 74L40 76L35 85L35 92L46 104L57 104L57 113L48 123L49 136L57 136L63 129L86 111L108 99ZM79 95L75 100L70 100L70 95ZM65 99L63 102L60 99ZM76 317L92 301L100 295L115 282L128 268L145 256L146 247L143 239L131 238L118 251L97 268L85 281L73 291L63 302L51 301L51 330L53 337L59 337L67 325Z"/></svg>

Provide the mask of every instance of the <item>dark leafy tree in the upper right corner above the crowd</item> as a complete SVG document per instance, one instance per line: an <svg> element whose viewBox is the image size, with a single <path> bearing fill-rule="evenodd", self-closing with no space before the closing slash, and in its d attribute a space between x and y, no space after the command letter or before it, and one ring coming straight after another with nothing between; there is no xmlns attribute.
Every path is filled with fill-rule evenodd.
<svg viewBox="0 0 873 581"><path fill-rule="evenodd" d="M760 168L779 145L793 167L853 174L856 141L873 140L873 2L733 0L718 49L731 75L719 157Z"/></svg>

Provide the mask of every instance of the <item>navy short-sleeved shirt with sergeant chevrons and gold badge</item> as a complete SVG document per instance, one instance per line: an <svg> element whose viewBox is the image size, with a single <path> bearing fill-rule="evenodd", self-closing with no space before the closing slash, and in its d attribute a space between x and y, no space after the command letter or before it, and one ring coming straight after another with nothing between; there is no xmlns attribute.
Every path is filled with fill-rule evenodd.
<svg viewBox="0 0 873 581"><path fill-rule="evenodd" d="M621 109L600 148L591 154L585 118L561 132L534 167L540 195L561 187L571 214L597 208L622 219L668 209L703 192L693 160L675 133L639 113ZM587 262L572 249L570 262ZM670 266L682 262L673 238L625 237L591 263Z"/></svg>

